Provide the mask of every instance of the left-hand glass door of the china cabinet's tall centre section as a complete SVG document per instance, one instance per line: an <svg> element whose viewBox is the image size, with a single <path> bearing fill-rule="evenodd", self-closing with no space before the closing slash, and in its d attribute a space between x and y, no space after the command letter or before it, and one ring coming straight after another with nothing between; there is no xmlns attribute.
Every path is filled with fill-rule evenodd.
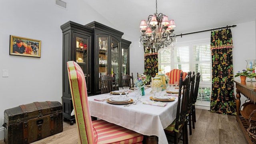
<svg viewBox="0 0 256 144"><path fill-rule="evenodd" d="M99 36L98 50L99 50L99 78L108 74L108 36Z"/></svg>

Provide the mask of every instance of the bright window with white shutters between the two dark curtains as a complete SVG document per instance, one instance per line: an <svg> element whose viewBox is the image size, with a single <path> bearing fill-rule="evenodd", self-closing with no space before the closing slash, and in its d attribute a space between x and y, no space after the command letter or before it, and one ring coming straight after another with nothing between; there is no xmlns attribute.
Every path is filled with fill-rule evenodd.
<svg viewBox="0 0 256 144"><path fill-rule="evenodd" d="M212 86L210 42L190 42L165 48L158 54L158 67L164 73L172 69L200 72L200 86L196 104L210 106Z"/></svg>

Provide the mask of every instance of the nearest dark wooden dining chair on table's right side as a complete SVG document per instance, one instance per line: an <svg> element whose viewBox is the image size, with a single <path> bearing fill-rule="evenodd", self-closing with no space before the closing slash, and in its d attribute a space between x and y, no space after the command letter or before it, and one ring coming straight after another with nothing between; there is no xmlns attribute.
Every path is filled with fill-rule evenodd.
<svg viewBox="0 0 256 144"><path fill-rule="evenodd" d="M180 72L176 119L172 122L172 124L164 129L168 141L174 144L178 144L180 140L183 141L183 144L188 144L188 123L186 114L188 112L190 77L186 76L186 78L182 80L182 76L183 73ZM172 139L170 139L169 137L172 137Z"/></svg>

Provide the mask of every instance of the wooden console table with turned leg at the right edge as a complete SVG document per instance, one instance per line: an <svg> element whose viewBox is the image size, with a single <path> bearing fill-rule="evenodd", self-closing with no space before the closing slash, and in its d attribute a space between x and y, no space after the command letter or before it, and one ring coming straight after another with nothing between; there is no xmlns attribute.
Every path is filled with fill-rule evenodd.
<svg viewBox="0 0 256 144"><path fill-rule="evenodd" d="M249 127L249 120L240 115L240 98L241 94L243 94L246 98L256 104L256 82L246 82L240 80L234 80L234 82L236 83L236 120L244 132L244 136L246 137L247 142L249 144L253 144L252 140L246 132L247 128Z"/></svg>

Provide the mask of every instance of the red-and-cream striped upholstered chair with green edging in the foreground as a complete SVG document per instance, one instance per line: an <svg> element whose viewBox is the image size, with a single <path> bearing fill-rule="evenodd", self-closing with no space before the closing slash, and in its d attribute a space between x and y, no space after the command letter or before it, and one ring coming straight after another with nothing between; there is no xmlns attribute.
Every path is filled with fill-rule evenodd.
<svg viewBox="0 0 256 144"><path fill-rule="evenodd" d="M79 144L142 144L142 134L104 120L91 120L84 73L74 61L67 66Z"/></svg>

